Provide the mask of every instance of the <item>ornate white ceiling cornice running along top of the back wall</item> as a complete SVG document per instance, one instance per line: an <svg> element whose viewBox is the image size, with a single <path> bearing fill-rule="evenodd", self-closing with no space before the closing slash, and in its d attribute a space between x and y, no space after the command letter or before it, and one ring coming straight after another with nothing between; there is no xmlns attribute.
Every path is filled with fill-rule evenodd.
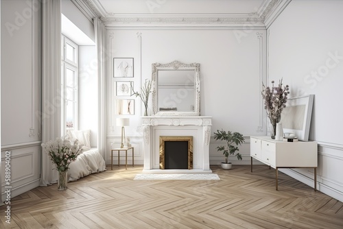
<svg viewBox="0 0 343 229"><path fill-rule="evenodd" d="M112 26L139 26L139 25L154 25L154 26L230 26L237 25L247 26L251 28L265 26L265 21L268 19L276 19L279 14L274 10L279 11L285 3L291 0L265 0L261 4L257 12L248 14L115 14L108 13L99 2L99 0L73 0L76 3L82 1L82 8L87 6L104 24L108 27ZM286 5L287 5L286 4ZM272 15L272 16L270 16Z"/></svg>

